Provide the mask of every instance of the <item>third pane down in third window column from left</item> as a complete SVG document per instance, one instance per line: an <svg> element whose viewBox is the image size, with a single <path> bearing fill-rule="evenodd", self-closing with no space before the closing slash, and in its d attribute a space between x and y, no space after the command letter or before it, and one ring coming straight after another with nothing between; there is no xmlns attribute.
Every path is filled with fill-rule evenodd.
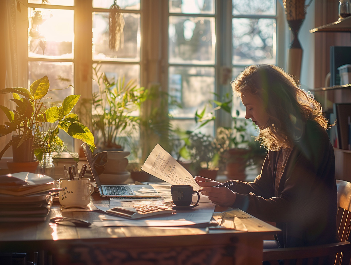
<svg viewBox="0 0 351 265"><path fill-rule="evenodd" d="M182 108L168 106L174 118L194 118L208 100L214 99L214 67L170 67L168 93Z"/></svg>

